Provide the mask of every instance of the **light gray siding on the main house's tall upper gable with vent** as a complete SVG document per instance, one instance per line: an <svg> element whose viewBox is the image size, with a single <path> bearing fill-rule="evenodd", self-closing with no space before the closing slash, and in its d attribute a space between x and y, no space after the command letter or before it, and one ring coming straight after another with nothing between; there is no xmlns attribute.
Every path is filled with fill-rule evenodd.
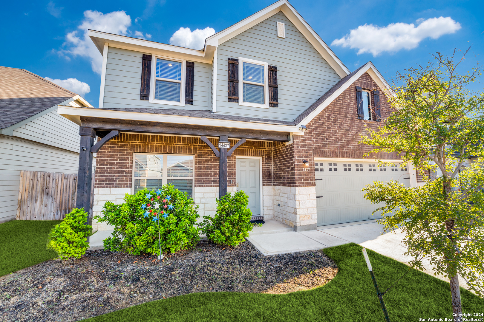
<svg viewBox="0 0 484 322"><path fill-rule="evenodd" d="M278 38L277 22L286 24ZM227 102L227 58L244 57L277 67L279 107L248 107ZM290 121L341 78L316 49L279 12L219 45L217 50L217 112ZM242 93L239 93L242 99Z"/></svg>

